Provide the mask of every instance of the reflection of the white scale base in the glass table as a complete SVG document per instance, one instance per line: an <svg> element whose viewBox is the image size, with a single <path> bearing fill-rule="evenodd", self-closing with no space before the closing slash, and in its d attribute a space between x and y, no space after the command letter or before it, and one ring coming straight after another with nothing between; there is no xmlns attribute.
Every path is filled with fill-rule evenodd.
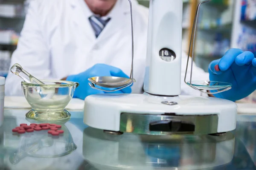
<svg viewBox="0 0 256 170"><path fill-rule="evenodd" d="M235 137L111 136L84 130L83 155L97 170L198 170L219 167L233 159Z"/></svg>

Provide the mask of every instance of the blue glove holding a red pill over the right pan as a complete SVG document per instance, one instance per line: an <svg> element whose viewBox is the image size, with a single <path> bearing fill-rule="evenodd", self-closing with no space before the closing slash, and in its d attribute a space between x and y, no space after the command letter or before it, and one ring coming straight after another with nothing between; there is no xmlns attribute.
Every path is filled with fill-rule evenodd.
<svg viewBox="0 0 256 170"><path fill-rule="evenodd" d="M219 71L215 70L215 65ZM210 63L209 78L232 84L229 91L214 94L215 97L231 101L243 99L256 90L256 59L250 51L232 48L224 57Z"/></svg>

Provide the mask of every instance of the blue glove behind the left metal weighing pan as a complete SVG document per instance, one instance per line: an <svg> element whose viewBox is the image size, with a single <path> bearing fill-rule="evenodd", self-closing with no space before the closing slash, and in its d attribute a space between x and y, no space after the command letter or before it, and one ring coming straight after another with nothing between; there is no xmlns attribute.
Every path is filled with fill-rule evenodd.
<svg viewBox="0 0 256 170"><path fill-rule="evenodd" d="M79 82L79 87L76 89L75 94L73 97L79 99L85 99L85 97L92 95L92 94L104 94L108 93L105 91L100 91L91 88L88 83L88 78L96 77L96 76L114 76L114 77L126 77L129 78L122 70L116 67L112 67L110 65L105 64L96 64L93 67L89 68L87 71L84 71L77 75L71 75L67 77L67 81L72 82ZM97 86L97 88L101 88ZM105 88L106 89L106 88ZM107 88L112 90L113 88ZM119 91L111 92L115 94L130 94L131 93L131 86L124 88Z"/></svg>

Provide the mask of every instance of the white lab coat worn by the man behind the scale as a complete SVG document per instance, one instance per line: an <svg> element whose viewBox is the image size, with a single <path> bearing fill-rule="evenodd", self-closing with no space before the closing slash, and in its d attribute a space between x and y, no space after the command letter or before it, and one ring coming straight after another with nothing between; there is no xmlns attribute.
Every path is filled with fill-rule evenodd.
<svg viewBox="0 0 256 170"><path fill-rule="evenodd" d="M147 41L148 9L132 0L134 14L134 78L132 93L143 88ZM84 0L34 0L12 56L11 65L19 63L39 79L62 79L86 71L96 63L105 63L131 71L131 19L128 0L118 0L108 14L110 22L98 38L88 17L92 12ZM170 30L171 31L171 30ZM183 83L186 54L182 55L182 94L200 95ZM209 79L195 67L194 80ZM6 95L22 95L21 79L9 74Z"/></svg>

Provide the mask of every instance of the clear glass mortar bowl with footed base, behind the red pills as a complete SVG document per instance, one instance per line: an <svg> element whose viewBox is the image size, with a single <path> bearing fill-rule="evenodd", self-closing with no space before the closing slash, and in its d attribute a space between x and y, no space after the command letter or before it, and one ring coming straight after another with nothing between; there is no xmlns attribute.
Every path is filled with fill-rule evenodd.
<svg viewBox="0 0 256 170"><path fill-rule="evenodd" d="M23 94L32 107L32 110L26 113L26 118L39 122L67 122L71 115L65 107L79 84L61 80L41 81L45 84L21 82Z"/></svg>

